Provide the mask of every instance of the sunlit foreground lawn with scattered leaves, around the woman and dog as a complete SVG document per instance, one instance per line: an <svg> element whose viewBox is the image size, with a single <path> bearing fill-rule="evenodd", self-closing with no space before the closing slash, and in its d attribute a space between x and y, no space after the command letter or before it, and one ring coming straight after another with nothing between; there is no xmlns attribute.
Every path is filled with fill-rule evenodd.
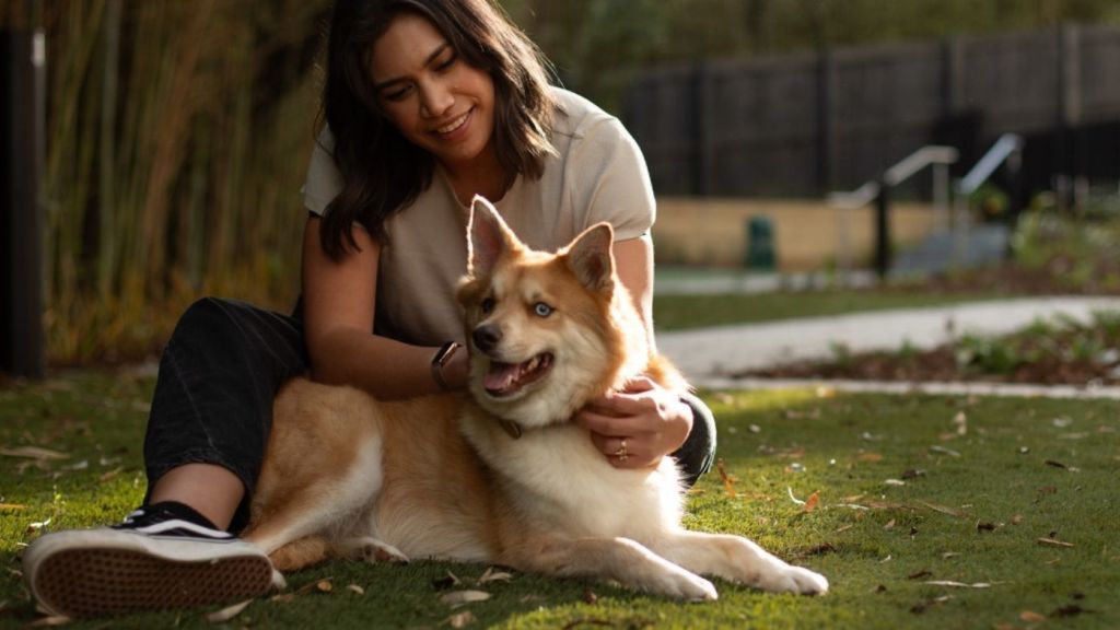
<svg viewBox="0 0 1120 630"><path fill-rule="evenodd" d="M115 521L141 498L150 379L74 373L0 389L0 626L36 619L17 554L37 536ZM728 475L707 475L688 525L738 532L829 577L823 597L717 583L720 600L678 604L573 580L514 574L450 610L433 582L470 585L485 566L335 562L290 577L288 601L252 603L227 627L448 628L1116 628L1120 626L1120 418L1114 401L712 392ZM954 418L963 414L967 430ZM888 480L902 480L904 485ZM806 500L804 511L791 493ZM20 507L22 506L22 507ZM1043 546L1053 537L1072 547ZM330 592L314 585L323 580ZM984 589L927 584L986 583ZM356 585L363 593L348 589ZM949 597L949 599L943 599ZM1064 611L1064 612L1063 612ZM206 611L74 628L213 628ZM1024 621L1024 615L1026 614ZM1046 621L1032 614L1045 615ZM582 620L581 623L577 623Z"/></svg>

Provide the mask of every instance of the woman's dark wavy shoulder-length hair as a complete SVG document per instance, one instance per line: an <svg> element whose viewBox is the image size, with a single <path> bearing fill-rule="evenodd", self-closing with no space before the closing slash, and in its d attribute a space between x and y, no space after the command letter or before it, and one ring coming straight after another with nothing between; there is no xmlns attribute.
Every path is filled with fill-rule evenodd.
<svg viewBox="0 0 1120 630"><path fill-rule="evenodd" d="M493 77L494 143L507 173L540 178L545 157L554 152L549 66L492 0L338 0L327 44L323 117L335 137L343 187L319 232L324 251L335 260L357 249L355 222L388 242L385 220L431 185L435 158L380 113L370 76L373 43L402 11L428 18L466 63Z"/></svg>

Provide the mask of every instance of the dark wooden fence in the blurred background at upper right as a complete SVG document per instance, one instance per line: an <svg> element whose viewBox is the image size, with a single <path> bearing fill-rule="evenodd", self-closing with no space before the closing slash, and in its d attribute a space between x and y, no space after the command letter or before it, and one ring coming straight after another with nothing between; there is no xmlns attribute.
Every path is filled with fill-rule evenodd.
<svg viewBox="0 0 1120 630"><path fill-rule="evenodd" d="M1118 76L1120 30L1065 26L654 68L624 118L660 194L819 195L930 143L960 150L960 175L1010 131L1028 139L1028 185L1045 188L1090 175L1103 149L1089 130L1120 121Z"/></svg>

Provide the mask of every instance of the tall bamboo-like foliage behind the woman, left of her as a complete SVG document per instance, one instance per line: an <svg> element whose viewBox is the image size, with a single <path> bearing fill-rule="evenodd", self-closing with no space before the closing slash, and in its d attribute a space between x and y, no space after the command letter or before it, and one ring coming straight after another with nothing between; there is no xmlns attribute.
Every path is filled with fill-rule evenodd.
<svg viewBox="0 0 1120 630"><path fill-rule="evenodd" d="M46 4L53 363L150 351L203 294L290 306L327 3Z"/></svg>

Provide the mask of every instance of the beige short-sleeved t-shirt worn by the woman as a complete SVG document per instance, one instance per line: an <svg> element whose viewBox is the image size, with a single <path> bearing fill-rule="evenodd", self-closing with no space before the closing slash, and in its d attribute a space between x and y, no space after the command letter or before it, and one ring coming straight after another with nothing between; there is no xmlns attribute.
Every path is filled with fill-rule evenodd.
<svg viewBox="0 0 1120 630"><path fill-rule="evenodd" d="M585 229L607 221L617 240L645 234L655 205L650 174L637 143L622 123L591 102L554 89L561 110L538 180L517 177L495 205L517 237L533 249L556 251ZM324 214L342 189L324 129L304 186L304 204ZM437 169L432 185L386 224L389 244L377 262L374 332L405 343L464 341L455 288L467 269L469 210Z"/></svg>

